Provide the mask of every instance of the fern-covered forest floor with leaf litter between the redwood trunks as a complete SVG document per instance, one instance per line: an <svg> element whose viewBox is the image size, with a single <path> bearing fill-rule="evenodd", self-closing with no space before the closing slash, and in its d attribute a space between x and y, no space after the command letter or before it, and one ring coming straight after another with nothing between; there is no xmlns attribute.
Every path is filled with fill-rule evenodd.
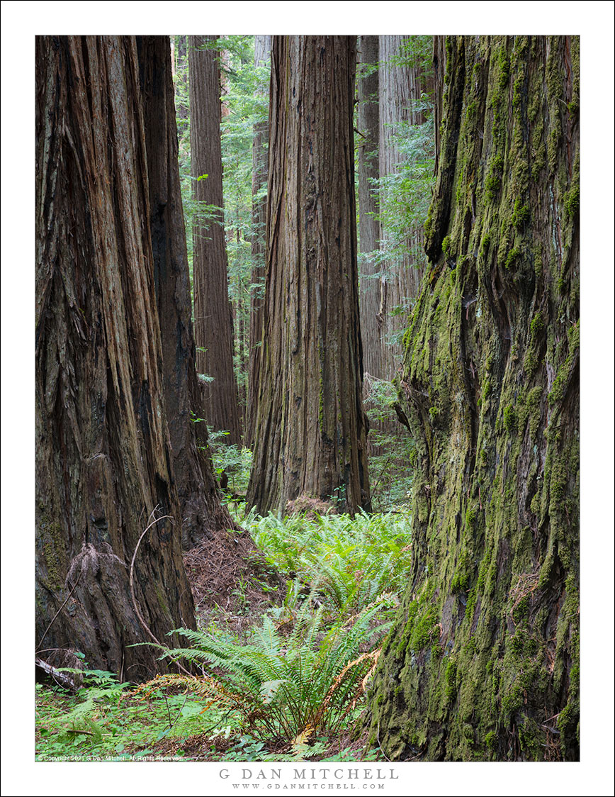
<svg viewBox="0 0 615 797"><path fill-rule="evenodd" d="M360 720L409 563L400 509L249 514L187 553L198 631L165 658L194 674L119 684L84 663L76 693L37 683L37 760L380 759Z"/></svg>

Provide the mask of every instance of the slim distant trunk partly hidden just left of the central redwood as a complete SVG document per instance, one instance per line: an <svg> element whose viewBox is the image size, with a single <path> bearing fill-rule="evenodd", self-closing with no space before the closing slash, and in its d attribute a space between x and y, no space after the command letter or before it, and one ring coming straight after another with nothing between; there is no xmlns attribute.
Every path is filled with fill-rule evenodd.
<svg viewBox="0 0 615 797"><path fill-rule="evenodd" d="M254 37L254 65L262 66L271 57L271 36ZM261 92L268 94L268 85ZM263 294L264 294L264 228L267 214L267 194L263 194L263 186L267 185L268 172L269 123L258 122L254 125L254 142L252 146L252 289L250 308L250 344L248 401L246 405L245 445L254 446L254 425L257 418L258 378L260 373L260 349L263 328Z"/></svg>

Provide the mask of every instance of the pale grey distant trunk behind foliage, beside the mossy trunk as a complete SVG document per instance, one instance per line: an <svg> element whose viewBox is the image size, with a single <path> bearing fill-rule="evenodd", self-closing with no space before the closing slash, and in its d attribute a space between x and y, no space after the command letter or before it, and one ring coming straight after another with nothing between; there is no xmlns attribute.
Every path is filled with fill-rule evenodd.
<svg viewBox="0 0 615 797"><path fill-rule="evenodd" d="M379 171L380 178L394 175L403 162L395 137L400 135L403 124L421 124L423 116L413 112L415 100L421 99L425 84L421 83L419 66L402 66L398 60L403 56L403 45L408 36L379 36ZM386 201L381 189L380 209ZM393 342L405 327L409 309L416 298L422 277L421 229L407 231L405 252L391 253L393 237L381 229L382 255L385 259L380 267L380 308L378 313L382 337L382 378L393 379L402 361L401 341ZM388 257L386 252L389 251Z"/></svg>

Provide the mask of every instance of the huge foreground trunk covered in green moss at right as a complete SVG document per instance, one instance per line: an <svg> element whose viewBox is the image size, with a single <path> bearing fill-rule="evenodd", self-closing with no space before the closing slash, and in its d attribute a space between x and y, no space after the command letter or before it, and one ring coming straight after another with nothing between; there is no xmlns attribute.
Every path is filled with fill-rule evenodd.
<svg viewBox="0 0 615 797"><path fill-rule="evenodd" d="M395 760L578 760L578 37L435 52L432 265L400 383L413 569L372 736Z"/></svg>

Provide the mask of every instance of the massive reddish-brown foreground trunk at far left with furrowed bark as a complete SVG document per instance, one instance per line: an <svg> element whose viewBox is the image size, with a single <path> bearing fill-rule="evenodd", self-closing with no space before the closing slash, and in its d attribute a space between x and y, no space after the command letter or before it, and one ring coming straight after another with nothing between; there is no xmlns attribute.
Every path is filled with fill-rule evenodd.
<svg viewBox="0 0 615 797"><path fill-rule="evenodd" d="M192 625L134 37L37 37L37 647L136 679ZM143 537L151 513L160 520Z"/></svg>

